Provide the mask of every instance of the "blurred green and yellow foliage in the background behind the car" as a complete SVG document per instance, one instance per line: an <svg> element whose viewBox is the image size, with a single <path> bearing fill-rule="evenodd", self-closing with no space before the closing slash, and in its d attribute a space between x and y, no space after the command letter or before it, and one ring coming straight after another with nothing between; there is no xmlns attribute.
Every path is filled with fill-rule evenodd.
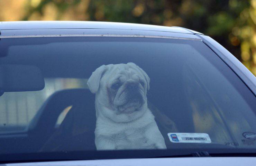
<svg viewBox="0 0 256 166"><path fill-rule="evenodd" d="M0 0L0 6L1 1L11 0ZM112 21L193 29L217 40L256 75L256 0L14 1L16 5L22 1L19 20ZM0 20L4 20L1 15Z"/></svg>

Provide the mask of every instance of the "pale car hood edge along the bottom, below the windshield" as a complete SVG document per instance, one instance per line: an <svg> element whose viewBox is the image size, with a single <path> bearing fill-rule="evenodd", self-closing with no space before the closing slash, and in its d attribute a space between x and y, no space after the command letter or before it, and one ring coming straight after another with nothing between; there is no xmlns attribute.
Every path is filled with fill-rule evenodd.
<svg viewBox="0 0 256 166"><path fill-rule="evenodd" d="M0 166L254 166L256 157L180 157L180 158L140 158L140 159L107 159L76 160L60 162L15 163Z"/></svg>

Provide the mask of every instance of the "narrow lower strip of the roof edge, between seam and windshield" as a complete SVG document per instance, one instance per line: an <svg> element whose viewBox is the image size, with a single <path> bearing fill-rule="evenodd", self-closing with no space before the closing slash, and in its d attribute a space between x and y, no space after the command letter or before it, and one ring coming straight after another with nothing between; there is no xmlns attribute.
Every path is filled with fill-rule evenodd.
<svg viewBox="0 0 256 166"><path fill-rule="evenodd" d="M186 38L198 39L193 34L173 33L163 31L145 31L145 30L124 30L124 29L24 29L24 30L1 30L0 38L17 37L60 37L60 36L110 36L133 35L131 37L155 36L158 38ZM125 37L125 36L124 36Z"/></svg>

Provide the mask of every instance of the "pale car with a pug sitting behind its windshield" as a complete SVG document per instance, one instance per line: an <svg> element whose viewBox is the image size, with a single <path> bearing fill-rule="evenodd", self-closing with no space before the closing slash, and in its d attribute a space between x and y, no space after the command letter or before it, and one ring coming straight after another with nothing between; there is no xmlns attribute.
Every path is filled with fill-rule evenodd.
<svg viewBox="0 0 256 166"><path fill-rule="evenodd" d="M102 65L130 62L150 78L138 86L147 89L163 138L154 145L162 141L166 149L128 139L155 136L129 122L106 124L95 134L107 134L107 141L95 145L95 109L106 105L99 101L95 108L87 81ZM106 93L111 102L115 91ZM255 76L199 32L114 22L0 22L0 165L255 165L255 113ZM134 130L116 131L125 125ZM115 148L99 150L108 141Z"/></svg>

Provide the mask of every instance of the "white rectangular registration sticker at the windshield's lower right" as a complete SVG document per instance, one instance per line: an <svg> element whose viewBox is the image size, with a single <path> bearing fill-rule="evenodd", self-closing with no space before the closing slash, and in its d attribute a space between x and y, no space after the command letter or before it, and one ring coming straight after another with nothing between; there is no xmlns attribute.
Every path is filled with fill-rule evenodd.
<svg viewBox="0 0 256 166"><path fill-rule="evenodd" d="M171 142L174 143L211 143L211 139L207 133L186 133L175 132L168 133Z"/></svg>

